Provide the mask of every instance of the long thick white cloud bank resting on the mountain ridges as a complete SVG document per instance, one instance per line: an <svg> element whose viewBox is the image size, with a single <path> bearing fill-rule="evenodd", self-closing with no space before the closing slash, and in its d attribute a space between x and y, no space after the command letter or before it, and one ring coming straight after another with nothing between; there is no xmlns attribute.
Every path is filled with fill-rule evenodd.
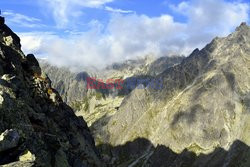
<svg viewBox="0 0 250 167"><path fill-rule="evenodd" d="M103 67L147 54L187 55L215 36L233 31L242 21L249 21L249 4L240 2L193 0L172 8L186 16L187 22L176 22L167 14L159 17L113 14L106 26L94 20L91 30L67 37L48 33L37 38L37 33L29 34L32 38L24 34L22 44L24 50L38 50L39 55L46 55L56 65Z"/></svg>

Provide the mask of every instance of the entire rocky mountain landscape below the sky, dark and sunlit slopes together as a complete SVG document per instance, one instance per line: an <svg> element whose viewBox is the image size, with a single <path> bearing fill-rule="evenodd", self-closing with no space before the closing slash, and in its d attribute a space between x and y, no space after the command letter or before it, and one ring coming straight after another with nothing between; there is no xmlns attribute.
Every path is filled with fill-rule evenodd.
<svg viewBox="0 0 250 167"><path fill-rule="evenodd" d="M1 17L0 165L249 167L249 72L246 23L187 57L71 72L24 55ZM122 89L88 89L90 77Z"/></svg>

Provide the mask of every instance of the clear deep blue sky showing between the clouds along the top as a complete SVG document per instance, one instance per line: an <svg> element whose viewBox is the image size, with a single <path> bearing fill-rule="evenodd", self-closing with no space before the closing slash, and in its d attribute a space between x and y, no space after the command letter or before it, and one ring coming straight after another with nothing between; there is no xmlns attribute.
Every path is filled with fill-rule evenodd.
<svg viewBox="0 0 250 167"><path fill-rule="evenodd" d="M121 9L124 11L131 11L138 15L147 15L149 17L159 17L162 14L168 13L174 16L176 21L185 22L186 18L182 15L173 12L170 8L171 5L177 5L181 0L116 0L113 2L109 2L105 4L105 7L110 7L112 9ZM88 24L91 20L98 20L101 23L105 24L109 21L111 15L116 12L110 12L105 10L103 7L79 7L79 11L81 11L81 15L78 18L75 18L79 25L69 25L65 27L56 27L56 22L53 19L53 11L49 10L47 5L43 3L47 3L44 1L33 1L33 0L3 0L0 1L0 6L2 12L12 11L13 13L22 14L28 17L33 17L39 19L39 23L46 25L45 26L37 26L37 27L27 27L22 24L13 24L10 26L15 31L34 31L34 30L53 30L61 33L62 30L86 30L81 25ZM59 8L59 7L58 7ZM119 12L117 12L119 13ZM124 13L126 14L126 13ZM129 14L129 13L127 13ZM8 18L8 16L6 15ZM59 18L58 18L59 19ZM70 23L69 23L70 24Z"/></svg>

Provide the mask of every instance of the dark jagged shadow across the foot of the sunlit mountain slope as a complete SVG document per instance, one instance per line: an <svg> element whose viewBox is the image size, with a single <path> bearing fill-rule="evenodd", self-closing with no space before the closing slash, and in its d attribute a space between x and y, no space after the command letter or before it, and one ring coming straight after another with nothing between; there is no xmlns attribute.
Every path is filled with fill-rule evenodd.
<svg viewBox="0 0 250 167"><path fill-rule="evenodd" d="M230 149L216 148L210 154L196 155L183 150L175 153L170 148L154 146L149 140L138 138L124 145L97 146L110 167L249 167L250 147L236 140Z"/></svg>

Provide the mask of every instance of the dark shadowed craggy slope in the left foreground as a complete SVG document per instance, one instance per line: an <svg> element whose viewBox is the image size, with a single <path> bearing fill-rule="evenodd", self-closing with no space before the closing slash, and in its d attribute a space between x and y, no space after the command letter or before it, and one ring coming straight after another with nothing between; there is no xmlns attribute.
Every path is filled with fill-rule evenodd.
<svg viewBox="0 0 250 167"><path fill-rule="evenodd" d="M75 116L34 55L0 25L0 165L103 166L86 122Z"/></svg>

